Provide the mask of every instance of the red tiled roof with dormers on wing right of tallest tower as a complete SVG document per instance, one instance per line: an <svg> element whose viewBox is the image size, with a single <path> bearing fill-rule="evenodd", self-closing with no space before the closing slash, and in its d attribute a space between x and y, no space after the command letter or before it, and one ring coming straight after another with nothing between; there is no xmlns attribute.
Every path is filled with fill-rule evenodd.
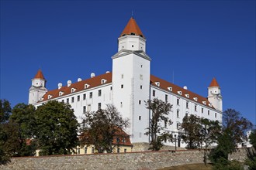
<svg viewBox="0 0 256 170"><path fill-rule="evenodd" d="M156 82L159 82L159 87L157 86ZM193 92L186 90L182 87L178 87L175 84L169 83L166 80L162 80L156 76L150 75L150 83L154 87L158 87L158 88L161 88L161 89L167 90L167 91L170 91L170 90L168 90L168 87L171 87L172 93L178 94L178 96L181 96L181 97L188 98L189 100L193 100L194 102L199 103L199 104L205 103L204 105L207 105L207 107L212 107L214 109L213 105L209 106L210 103L206 97L199 96L196 93L193 93ZM182 94L180 94L179 92L182 92ZM195 100L195 98L197 100Z"/></svg>

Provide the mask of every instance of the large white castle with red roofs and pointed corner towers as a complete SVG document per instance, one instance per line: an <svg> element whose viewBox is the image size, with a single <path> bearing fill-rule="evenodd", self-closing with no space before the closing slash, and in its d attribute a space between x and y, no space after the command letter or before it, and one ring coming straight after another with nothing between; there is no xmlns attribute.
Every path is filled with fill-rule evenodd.
<svg viewBox="0 0 256 170"><path fill-rule="evenodd" d="M215 78L209 84L208 97L202 97L186 87L151 75L150 60L144 34L132 17L118 38L118 52L112 56L112 72L99 76L92 73L86 80L78 78L75 83L68 80L66 86L58 83L57 89L47 90L46 80L39 70L29 89L29 104L38 107L48 100L71 104L78 121L86 111L113 104L123 117L130 119L130 128L126 132L133 143L149 142L144 133L149 126L150 110L144 101L155 97L172 105L169 117L173 124L165 127L166 131L178 133L177 128L186 114L222 122L222 96ZM167 142L164 145L173 144Z"/></svg>

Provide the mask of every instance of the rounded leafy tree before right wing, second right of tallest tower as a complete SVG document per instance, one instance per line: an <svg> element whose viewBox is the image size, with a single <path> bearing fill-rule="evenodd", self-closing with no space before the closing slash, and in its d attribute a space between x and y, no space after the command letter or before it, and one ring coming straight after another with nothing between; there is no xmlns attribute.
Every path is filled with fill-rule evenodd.
<svg viewBox="0 0 256 170"><path fill-rule="evenodd" d="M182 140L187 143L188 148L197 148L199 146L201 137L202 125L200 118L194 114L185 116L179 128L182 134Z"/></svg>

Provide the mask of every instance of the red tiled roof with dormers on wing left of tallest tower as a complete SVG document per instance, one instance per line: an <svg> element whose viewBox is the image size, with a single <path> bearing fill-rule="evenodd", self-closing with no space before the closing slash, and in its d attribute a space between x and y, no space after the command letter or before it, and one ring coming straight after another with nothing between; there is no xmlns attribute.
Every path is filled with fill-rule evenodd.
<svg viewBox="0 0 256 170"><path fill-rule="evenodd" d="M112 73L105 73L105 74L102 74L99 76L89 78L87 80L81 80L76 83L71 83L70 87L65 86L65 87L61 87L61 89L50 90L43 95L43 100L41 100L41 101L48 100L48 95L51 96L50 99L60 97L59 92L63 93L61 96L70 94L72 88L75 89L74 92L85 90L85 84L89 85L88 88L86 88L86 89L90 89L92 87L99 87L100 85L102 85L102 79L105 79L106 83L111 83L112 82Z"/></svg>

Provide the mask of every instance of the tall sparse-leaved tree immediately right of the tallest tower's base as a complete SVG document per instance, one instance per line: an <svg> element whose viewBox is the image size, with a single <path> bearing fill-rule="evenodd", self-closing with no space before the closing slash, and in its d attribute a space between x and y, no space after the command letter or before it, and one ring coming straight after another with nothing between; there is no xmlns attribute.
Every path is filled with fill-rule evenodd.
<svg viewBox="0 0 256 170"><path fill-rule="evenodd" d="M171 104L154 98L153 100L147 100L147 109L150 110L150 126L146 128L146 135L150 136L150 150L158 151L163 146L162 141L168 139L171 141L172 135L168 131L164 131L165 124L171 125L172 122L168 118L168 114L171 110ZM161 122L164 122L164 126Z"/></svg>

